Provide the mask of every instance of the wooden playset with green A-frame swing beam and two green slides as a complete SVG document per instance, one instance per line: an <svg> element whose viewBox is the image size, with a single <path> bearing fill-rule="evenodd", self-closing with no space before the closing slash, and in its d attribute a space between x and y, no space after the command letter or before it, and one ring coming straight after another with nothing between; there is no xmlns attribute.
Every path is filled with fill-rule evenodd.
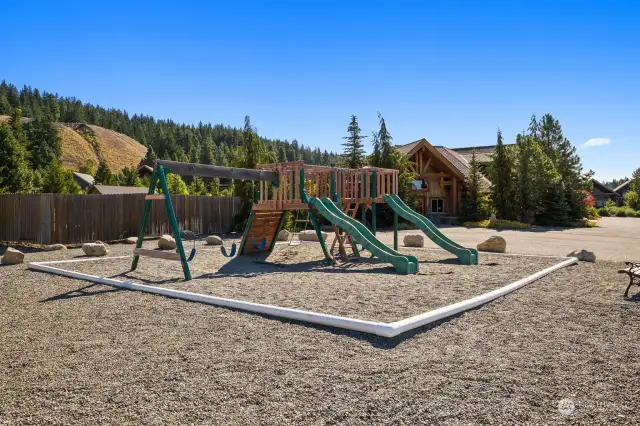
<svg viewBox="0 0 640 426"><path fill-rule="evenodd" d="M477 251L465 249L441 234L425 217L409 209L397 196L398 171L381 168L345 169L340 167L315 166L302 161L261 164L257 169L240 169L193 163L158 160L145 197L145 209L138 242L134 249L131 269L136 269L140 256L149 256L182 263L184 277L191 279L189 262L196 254L195 247L187 256L181 230L178 229L175 212L166 183L166 174L224 177L251 180L255 185L255 199L240 246L235 245L225 256L270 253L276 244L278 233L285 221L285 212L306 211L322 251L328 262L339 263L359 256L360 250L393 265L398 273L412 274L418 271L415 256L403 255L398 249L398 215L418 225L441 247L456 254L466 264L477 263ZM155 194L156 188L162 194ZM177 243L176 253L146 250L142 248L144 232L154 201L163 201L171 230ZM386 246L376 237L376 210L381 203L389 204L394 211L394 248ZM365 223L366 212L371 210L371 229ZM357 220L360 212L361 221ZM322 236L319 217L329 222L335 234L330 248ZM358 247L358 245L360 247ZM347 253L351 248L352 253ZM475 251L475 254L473 253Z"/></svg>

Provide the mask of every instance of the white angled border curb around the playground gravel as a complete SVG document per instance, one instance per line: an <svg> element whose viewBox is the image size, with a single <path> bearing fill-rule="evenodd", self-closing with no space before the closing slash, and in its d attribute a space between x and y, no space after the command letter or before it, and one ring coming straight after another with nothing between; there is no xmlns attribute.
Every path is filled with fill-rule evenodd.
<svg viewBox="0 0 640 426"><path fill-rule="evenodd" d="M365 321L354 318L340 317L335 315L322 314L318 312L303 311L300 309L283 308L274 305L263 305L260 303L245 302L236 299L225 299L222 297L209 296L200 293L191 293L188 291L175 290L171 288L154 287L146 284L137 284L128 281L120 281L113 278L99 277L96 275L84 274L81 272L69 271L66 269L56 268L51 265L58 265L64 263L75 262L87 262L98 260L113 260L123 259L129 256L109 257L109 258L90 258L90 259L74 259L74 260L59 260L52 262L32 262L29 263L28 268L34 271L48 272L55 275L62 275L69 278L76 278L79 280L90 281L98 284L110 285L118 288L125 288L128 290L142 291L145 293L159 294L162 296L172 297L176 299L189 300L192 302L206 303L209 305L222 306L226 308L239 309L247 312L255 312L265 315L270 315L279 318L287 318L296 321L303 321L312 324L320 324L330 327L343 328L346 330L360 331L363 333L375 334L382 337L395 337L407 331L413 330L423 325L439 321L443 318L456 315L460 312L467 311L469 309L476 308L480 305L488 303L499 297L518 290L525 285L532 283L550 273L562 269L566 266L572 265L578 262L575 257L562 258L562 262L536 272L526 278L518 280L514 283L508 284L499 289L490 291L480 296L473 297L471 299L463 300L462 302L454 303L433 311L425 312L424 314L416 315L410 318L406 318L400 321L391 323L382 323L374 321Z"/></svg>

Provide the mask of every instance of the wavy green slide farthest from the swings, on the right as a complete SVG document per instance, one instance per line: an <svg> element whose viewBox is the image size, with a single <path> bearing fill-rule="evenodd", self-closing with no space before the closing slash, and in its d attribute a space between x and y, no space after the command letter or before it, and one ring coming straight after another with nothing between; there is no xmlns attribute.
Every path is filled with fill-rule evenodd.
<svg viewBox="0 0 640 426"><path fill-rule="evenodd" d="M447 238L436 226L426 217L416 213L407 206L400 197L395 194L386 194L384 200L391 209L398 213L402 218L417 225L427 237L436 243L440 248L445 249L449 253L455 254L460 263L464 265L478 264L478 250L466 248Z"/></svg>

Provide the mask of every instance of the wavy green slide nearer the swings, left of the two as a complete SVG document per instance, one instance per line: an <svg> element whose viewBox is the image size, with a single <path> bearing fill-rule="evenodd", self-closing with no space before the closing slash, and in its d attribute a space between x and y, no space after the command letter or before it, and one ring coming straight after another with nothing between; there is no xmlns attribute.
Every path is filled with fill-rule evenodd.
<svg viewBox="0 0 640 426"><path fill-rule="evenodd" d="M347 216L329 198L313 197L309 200L309 205L315 207L329 222L347 231L354 242L360 244L363 249L369 250L380 260L391 263L398 273L406 275L418 272L418 259L415 256L398 253L383 244L366 226Z"/></svg>

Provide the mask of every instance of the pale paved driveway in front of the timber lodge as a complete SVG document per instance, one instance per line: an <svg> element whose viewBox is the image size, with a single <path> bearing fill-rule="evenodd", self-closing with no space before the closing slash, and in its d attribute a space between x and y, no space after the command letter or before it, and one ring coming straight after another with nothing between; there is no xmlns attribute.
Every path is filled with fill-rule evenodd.
<svg viewBox="0 0 640 426"><path fill-rule="evenodd" d="M497 231L493 229L467 229L442 227L442 232L455 242L475 247L491 235L501 235L507 240L511 253L564 256L576 248L595 252L602 260L633 260L640 262L640 218L603 217L596 228L544 228L532 231ZM419 231L418 231L419 232ZM416 231L401 231L415 234ZM393 232L381 232L379 238L393 243ZM428 238L425 246L437 247Z"/></svg>

